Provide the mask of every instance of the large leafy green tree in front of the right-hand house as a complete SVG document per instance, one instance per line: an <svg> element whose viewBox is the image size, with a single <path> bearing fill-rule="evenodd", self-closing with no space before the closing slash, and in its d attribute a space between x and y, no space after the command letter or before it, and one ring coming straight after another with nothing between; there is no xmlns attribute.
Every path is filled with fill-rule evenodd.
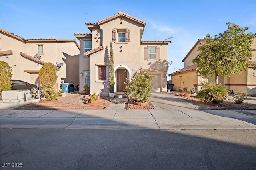
<svg viewBox="0 0 256 170"><path fill-rule="evenodd" d="M224 33L215 35L214 38L207 34L204 43L198 47L198 55L192 63L198 65L198 76L215 76L218 84L218 76L240 74L247 70L252 63L252 41L255 33L246 33L249 27L241 28L233 23L226 23L228 29Z"/></svg>

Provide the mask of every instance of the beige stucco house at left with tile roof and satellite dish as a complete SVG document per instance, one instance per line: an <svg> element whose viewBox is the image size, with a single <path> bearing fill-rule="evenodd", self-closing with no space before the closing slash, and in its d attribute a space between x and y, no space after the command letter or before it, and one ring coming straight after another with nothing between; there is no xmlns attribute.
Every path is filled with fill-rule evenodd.
<svg viewBox="0 0 256 170"><path fill-rule="evenodd" d="M12 79L40 87L38 72L51 62L58 76L54 89L60 89L61 82L79 84L79 45L75 39L24 39L4 29L0 35L0 60L12 67Z"/></svg>

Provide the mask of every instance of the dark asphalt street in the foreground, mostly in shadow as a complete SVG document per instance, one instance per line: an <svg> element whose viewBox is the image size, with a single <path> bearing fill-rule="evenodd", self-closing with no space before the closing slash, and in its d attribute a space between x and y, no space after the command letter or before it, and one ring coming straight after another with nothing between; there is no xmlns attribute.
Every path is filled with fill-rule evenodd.
<svg viewBox="0 0 256 170"><path fill-rule="evenodd" d="M256 130L1 129L1 170L253 170L255 160Z"/></svg>

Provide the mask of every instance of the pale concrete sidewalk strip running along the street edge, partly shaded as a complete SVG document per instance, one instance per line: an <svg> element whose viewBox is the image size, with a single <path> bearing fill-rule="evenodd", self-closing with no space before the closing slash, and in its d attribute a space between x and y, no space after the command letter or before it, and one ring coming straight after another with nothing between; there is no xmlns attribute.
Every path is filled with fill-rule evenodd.
<svg viewBox="0 0 256 170"><path fill-rule="evenodd" d="M256 129L256 110L13 110L1 109L1 128Z"/></svg>

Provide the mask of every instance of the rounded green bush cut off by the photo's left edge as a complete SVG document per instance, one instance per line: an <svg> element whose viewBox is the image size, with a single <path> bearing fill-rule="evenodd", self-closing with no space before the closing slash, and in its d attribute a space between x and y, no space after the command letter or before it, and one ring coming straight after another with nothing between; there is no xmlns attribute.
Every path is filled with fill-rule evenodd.
<svg viewBox="0 0 256 170"><path fill-rule="evenodd" d="M12 87L12 67L4 61L0 61L0 96L2 90L11 90Z"/></svg>

